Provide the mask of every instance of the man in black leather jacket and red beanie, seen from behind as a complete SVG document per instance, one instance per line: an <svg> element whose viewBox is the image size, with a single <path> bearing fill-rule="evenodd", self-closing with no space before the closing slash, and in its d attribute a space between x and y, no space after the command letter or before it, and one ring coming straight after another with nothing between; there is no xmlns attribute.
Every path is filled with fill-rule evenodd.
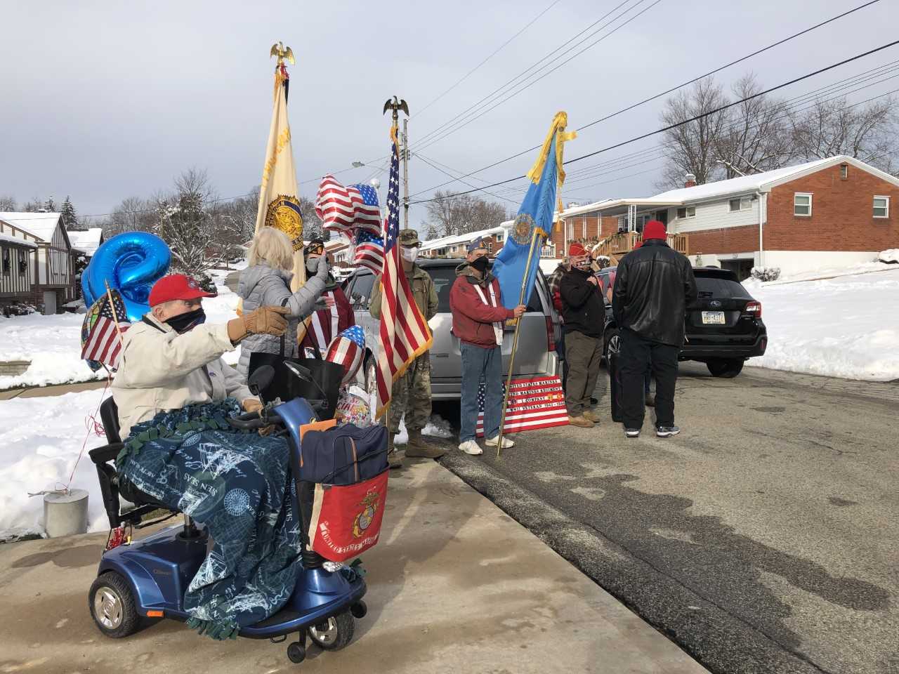
<svg viewBox="0 0 899 674"><path fill-rule="evenodd" d="M645 415L644 377L655 379L655 433L677 435L674 386L678 354L683 346L687 306L696 301L696 279L690 261L665 243L665 226L646 223L643 246L619 264L612 312L621 335L622 416L628 438L640 435Z"/></svg>

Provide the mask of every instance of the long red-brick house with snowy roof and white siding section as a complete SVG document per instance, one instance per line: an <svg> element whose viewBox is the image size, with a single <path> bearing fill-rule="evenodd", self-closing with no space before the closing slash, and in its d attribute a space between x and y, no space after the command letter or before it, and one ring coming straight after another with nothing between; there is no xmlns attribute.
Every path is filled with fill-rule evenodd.
<svg viewBox="0 0 899 674"><path fill-rule="evenodd" d="M752 267L796 273L868 262L899 247L899 179L850 156L704 185L691 178L681 189L647 199L566 208L565 230L574 223L576 235L579 222L596 227L601 217L599 235L623 229L628 234L611 236L629 249L647 220L662 220L669 243L676 240L691 262L741 278Z"/></svg>

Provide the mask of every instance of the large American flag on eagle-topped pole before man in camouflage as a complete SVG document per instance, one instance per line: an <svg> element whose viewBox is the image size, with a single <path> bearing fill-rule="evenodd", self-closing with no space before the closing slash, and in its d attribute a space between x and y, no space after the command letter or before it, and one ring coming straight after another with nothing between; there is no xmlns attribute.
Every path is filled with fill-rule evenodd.
<svg viewBox="0 0 899 674"><path fill-rule="evenodd" d="M384 239L384 273L381 275L381 333L378 352L377 416L390 404L390 389L412 361L431 348L431 329L415 304L405 273L400 269L399 245L399 153L396 126L390 129L390 182L387 187L387 220ZM378 282L377 280L375 281Z"/></svg>

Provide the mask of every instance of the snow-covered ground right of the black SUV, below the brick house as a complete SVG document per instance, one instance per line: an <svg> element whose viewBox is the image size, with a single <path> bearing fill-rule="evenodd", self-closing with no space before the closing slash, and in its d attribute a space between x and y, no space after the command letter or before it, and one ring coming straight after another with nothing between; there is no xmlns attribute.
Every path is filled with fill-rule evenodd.
<svg viewBox="0 0 899 674"><path fill-rule="evenodd" d="M818 280L797 281L807 277ZM749 279L743 285L761 302L768 327L768 350L747 365L848 379L899 379L895 265L871 262L769 283Z"/></svg>

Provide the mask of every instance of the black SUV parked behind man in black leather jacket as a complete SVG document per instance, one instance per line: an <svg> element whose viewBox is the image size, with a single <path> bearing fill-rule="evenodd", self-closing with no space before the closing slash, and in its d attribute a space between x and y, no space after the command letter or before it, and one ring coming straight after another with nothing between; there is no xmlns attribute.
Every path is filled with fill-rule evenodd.
<svg viewBox="0 0 899 674"><path fill-rule="evenodd" d="M615 267L599 273L603 291L614 287ZM736 377L746 359L764 355L768 331L761 322L761 303L736 279L733 271L717 267L693 269L699 298L687 307L684 317L686 340L681 360L705 363L715 377ZM603 352L618 337L612 307L606 300L606 328Z"/></svg>

